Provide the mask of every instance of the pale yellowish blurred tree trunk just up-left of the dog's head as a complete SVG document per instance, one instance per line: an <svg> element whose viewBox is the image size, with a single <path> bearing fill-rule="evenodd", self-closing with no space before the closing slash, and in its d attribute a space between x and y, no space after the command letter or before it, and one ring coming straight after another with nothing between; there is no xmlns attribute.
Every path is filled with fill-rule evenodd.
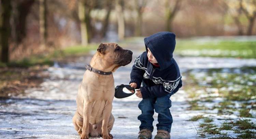
<svg viewBox="0 0 256 139"><path fill-rule="evenodd" d="M80 28L81 28L81 44L83 46L88 45L88 32L85 18L85 3L83 0L79 0L78 4L78 15L80 20Z"/></svg>

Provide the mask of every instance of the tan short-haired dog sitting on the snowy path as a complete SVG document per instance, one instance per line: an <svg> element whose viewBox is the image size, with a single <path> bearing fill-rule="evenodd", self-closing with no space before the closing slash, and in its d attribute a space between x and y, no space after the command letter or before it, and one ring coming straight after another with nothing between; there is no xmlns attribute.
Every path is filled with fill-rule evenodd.
<svg viewBox="0 0 256 139"><path fill-rule="evenodd" d="M124 50L117 44L100 44L91 59L92 68L104 72L114 72L120 66L129 64L132 52ZM86 70L79 85L76 104L77 110L73 124L81 139L103 136L112 139L110 131L114 124L112 101L115 87L113 74L101 75Z"/></svg>

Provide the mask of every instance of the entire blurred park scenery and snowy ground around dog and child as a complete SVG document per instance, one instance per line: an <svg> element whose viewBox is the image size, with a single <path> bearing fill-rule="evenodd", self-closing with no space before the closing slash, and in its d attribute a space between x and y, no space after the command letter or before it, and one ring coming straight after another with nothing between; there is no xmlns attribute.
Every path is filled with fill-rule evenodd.
<svg viewBox="0 0 256 139"><path fill-rule="evenodd" d="M128 84L160 31L176 34L183 80L171 137L255 139L256 0L0 0L0 138L79 138L77 87L99 44L133 52L113 74ZM137 138L140 101L114 99L114 138Z"/></svg>

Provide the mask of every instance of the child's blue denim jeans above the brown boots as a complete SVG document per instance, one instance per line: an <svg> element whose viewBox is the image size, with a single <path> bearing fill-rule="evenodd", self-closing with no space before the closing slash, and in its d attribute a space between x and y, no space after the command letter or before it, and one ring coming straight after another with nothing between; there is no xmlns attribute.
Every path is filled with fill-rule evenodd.
<svg viewBox="0 0 256 139"><path fill-rule="evenodd" d="M141 122L140 130L149 129L153 132L153 115L155 109L158 113L158 124L156 124L157 130L171 131L172 115L169 108L172 104L170 97L171 93L159 98L142 99L138 105L141 110L141 115L138 116L138 120Z"/></svg>

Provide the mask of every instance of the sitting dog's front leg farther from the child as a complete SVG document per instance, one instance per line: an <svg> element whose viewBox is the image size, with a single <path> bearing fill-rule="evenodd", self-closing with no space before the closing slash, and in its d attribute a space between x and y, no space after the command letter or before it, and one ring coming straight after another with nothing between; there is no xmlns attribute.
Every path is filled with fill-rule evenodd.
<svg viewBox="0 0 256 139"><path fill-rule="evenodd" d="M91 110L92 110L92 103L91 102L84 102L84 108L83 108L83 128L82 128L82 134L81 139L89 139L89 119L91 116Z"/></svg>

